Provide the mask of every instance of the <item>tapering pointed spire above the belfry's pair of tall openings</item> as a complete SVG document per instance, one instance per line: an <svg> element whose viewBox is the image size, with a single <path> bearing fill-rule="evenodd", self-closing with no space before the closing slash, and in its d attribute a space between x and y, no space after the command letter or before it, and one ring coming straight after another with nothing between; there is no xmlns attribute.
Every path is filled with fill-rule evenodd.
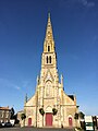
<svg viewBox="0 0 98 131"><path fill-rule="evenodd" d="M50 13L48 13L48 23L46 29L45 44L44 44L44 52L49 52L49 51L54 52L54 40L52 35Z"/></svg>

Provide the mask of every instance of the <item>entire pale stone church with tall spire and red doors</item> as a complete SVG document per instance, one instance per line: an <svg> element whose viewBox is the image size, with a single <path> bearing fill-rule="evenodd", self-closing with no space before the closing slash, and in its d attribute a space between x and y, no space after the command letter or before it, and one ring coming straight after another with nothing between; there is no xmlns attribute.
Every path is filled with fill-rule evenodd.
<svg viewBox="0 0 98 131"><path fill-rule="evenodd" d="M25 98L24 126L75 127L74 115L78 112L76 97L65 94L63 88L63 76L59 78L58 73L56 44L50 14L48 14L40 75L37 76L35 95L29 99Z"/></svg>

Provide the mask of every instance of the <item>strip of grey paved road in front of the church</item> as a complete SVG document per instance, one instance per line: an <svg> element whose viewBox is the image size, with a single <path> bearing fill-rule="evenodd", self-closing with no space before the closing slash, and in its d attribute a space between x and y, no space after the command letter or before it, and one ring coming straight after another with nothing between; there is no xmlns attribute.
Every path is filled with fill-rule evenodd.
<svg viewBox="0 0 98 131"><path fill-rule="evenodd" d="M74 129L52 129L52 128L0 128L0 131L74 131Z"/></svg>

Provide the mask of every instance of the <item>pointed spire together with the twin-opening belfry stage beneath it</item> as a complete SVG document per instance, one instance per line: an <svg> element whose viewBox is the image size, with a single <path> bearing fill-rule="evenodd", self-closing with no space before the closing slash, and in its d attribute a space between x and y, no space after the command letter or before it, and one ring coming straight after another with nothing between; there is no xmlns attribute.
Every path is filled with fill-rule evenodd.
<svg viewBox="0 0 98 131"><path fill-rule="evenodd" d="M44 41L44 52L41 57L41 68L51 69L57 68L57 56L54 51L54 40L52 35L52 25L50 20L50 13L48 13L48 22L46 28L46 37Z"/></svg>

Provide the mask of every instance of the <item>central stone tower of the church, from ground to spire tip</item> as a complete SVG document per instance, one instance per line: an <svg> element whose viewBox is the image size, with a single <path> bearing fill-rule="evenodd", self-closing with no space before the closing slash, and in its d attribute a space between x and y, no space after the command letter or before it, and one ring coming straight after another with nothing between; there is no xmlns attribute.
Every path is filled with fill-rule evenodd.
<svg viewBox="0 0 98 131"><path fill-rule="evenodd" d="M38 100L37 112L40 108L42 108L46 112L45 116L49 114L53 118L52 108L57 108L58 115L56 119L58 119L57 121L58 126L61 123L59 92L60 88L62 90L62 85L63 84L59 82L59 74L57 68L57 53L54 50L52 25L50 20L50 13L48 13L46 36L44 40L44 51L41 55L41 70L40 70L40 75L37 79L37 100ZM44 120L39 114L37 114L37 120L38 120L37 121L38 127L47 124L47 121L46 123L44 123ZM39 122L39 120L41 120L41 123Z"/></svg>

